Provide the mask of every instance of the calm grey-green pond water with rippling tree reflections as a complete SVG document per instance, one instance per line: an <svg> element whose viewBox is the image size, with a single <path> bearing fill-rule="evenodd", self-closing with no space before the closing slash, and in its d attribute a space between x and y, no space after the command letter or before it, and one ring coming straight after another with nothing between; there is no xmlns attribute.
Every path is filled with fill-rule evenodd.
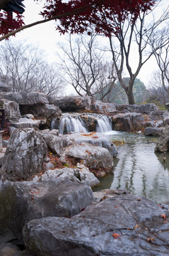
<svg viewBox="0 0 169 256"><path fill-rule="evenodd" d="M169 153L165 162L163 153L154 153L156 138L116 131L106 135L124 145L117 146L113 174L100 178L100 186L96 189L127 189L156 203L169 201Z"/></svg>

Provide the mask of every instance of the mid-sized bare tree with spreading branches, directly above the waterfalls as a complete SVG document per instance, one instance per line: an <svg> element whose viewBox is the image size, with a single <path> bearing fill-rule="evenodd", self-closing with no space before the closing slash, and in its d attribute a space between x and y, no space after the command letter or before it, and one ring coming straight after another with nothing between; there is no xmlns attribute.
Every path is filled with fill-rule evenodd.
<svg viewBox="0 0 169 256"><path fill-rule="evenodd" d="M96 37L78 36L68 45L60 46L66 58L62 60L62 70L66 82L74 87L78 95L100 95L103 100L115 84L113 63L104 60L104 53L98 50Z"/></svg>

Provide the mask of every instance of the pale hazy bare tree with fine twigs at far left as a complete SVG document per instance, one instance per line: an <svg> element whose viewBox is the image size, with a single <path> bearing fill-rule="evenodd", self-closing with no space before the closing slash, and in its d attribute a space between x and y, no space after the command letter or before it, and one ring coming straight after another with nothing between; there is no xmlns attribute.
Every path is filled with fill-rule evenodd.
<svg viewBox="0 0 169 256"><path fill-rule="evenodd" d="M12 92L59 94L64 89L54 64L45 60L42 50L25 42L5 42L0 47L0 80Z"/></svg>

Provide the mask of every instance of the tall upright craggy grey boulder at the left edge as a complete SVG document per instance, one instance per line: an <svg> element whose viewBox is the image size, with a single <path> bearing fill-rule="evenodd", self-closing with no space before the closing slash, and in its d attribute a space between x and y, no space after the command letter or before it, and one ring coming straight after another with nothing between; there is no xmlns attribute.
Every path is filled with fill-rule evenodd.
<svg viewBox="0 0 169 256"><path fill-rule="evenodd" d="M1 166L3 180L25 180L43 171L47 144L34 129L16 129L11 134Z"/></svg>

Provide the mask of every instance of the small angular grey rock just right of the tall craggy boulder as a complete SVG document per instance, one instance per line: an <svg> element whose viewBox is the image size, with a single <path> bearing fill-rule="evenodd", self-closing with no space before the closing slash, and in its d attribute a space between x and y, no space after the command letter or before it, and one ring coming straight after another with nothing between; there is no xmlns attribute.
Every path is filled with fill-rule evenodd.
<svg viewBox="0 0 169 256"><path fill-rule="evenodd" d="M45 140L48 149L52 150L54 153L58 154L59 156L64 150L64 148L71 144L68 138L59 136L59 132L56 129L52 129L52 131L49 131L49 130L40 131L39 134Z"/></svg>

